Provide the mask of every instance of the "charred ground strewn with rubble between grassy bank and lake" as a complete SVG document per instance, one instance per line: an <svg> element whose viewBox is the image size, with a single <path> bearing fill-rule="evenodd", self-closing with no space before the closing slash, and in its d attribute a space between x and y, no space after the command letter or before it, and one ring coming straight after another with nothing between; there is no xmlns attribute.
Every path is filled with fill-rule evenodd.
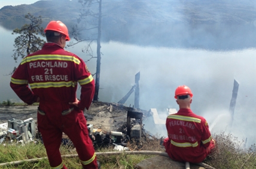
<svg viewBox="0 0 256 169"><path fill-rule="evenodd" d="M0 144L8 139L19 142L41 139L37 129L37 108L29 105L0 107ZM143 114L140 109L107 102L92 102L84 111L89 136L98 147L112 143L126 146L131 138L147 137L142 127ZM69 142L65 133L62 138L63 142Z"/></svg>

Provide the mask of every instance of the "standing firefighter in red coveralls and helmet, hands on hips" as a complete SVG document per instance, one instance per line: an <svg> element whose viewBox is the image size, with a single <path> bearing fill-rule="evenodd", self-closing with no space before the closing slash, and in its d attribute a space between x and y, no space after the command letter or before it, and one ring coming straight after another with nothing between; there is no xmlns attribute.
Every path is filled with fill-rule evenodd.
<svg viewBox="0 0 256 169"><path fill-rule="evenodd" d="M70 40L65 24L50 21L44 32L47 43L22 60L10 86L27 104L39 102L38 130L51 168L66 168L59 151L64 132L74 143L83 168L95 169L96 154L83 114L92 103L95 81L84 61L63 49ZM80 101L77 82L81 85Z"/></svg>

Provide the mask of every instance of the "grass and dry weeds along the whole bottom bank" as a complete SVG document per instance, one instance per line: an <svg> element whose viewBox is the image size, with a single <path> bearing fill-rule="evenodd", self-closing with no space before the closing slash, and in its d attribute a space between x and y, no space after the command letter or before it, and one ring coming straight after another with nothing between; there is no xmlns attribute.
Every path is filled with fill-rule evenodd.
<svg viewBox="0 0 256 169"><path fill-rule="evenodd" d="M212 154L203 161L218 169L252 169L256 168L256 148L255 145L245 149L242 148L243 142L239 142L236 137L231 134L215 134L217 148ZM140 143L130 143L127 145L134 151L161 151L164 152L163 146L160 145L160 140L163 138L151 137L142 139ZM98 148L96 152L112 152L114 146L108 148ZM41 142L34 143L8 143L3 142L0 145L0 163L22 161L24 159L47 157L44 145ZM77 154L72 146L62 145L60 147L62 155ZM102 169L133 169L135 165L144 159L154 157L154 155L97 155L97 160L100 161ZM80 159L75 157L63 157L63 162L66 167L81 168ZM50 168L47 158L40 159L36 162L24 162L20 165L0 166L0 168Z"/></svg>

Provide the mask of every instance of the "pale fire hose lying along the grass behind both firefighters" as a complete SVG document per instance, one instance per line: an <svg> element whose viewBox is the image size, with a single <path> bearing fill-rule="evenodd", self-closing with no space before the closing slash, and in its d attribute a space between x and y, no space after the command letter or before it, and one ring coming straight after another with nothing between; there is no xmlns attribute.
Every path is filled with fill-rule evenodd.
<svg viewBox="0 0 256 169"><path fill-rule="evenodd" d="M119 154L144 154L144 155L161 155L164 157L169 157L166 152L160 152L160 151L113 151L113 152L96 152L96 155L119 155ZM78 157L78 154L71 154L71 155L62 155L63 158L73 158L73 157ZM45 159L47 157L42 157L42 158L33 158L33 159L24 159L21 161L12 161L12 162L5 162L1 163L0 166L6 166L6 165L20 165L25 162L38 162L41 159ZM186 169L189 169L189 163L186 162ZM205 164L203 162L197 163L196 165L199 165L201 167L209 168L209 169L215 169L214 167L211 167L208 164ZM188 168L187 168L188 167Z"/></svg>

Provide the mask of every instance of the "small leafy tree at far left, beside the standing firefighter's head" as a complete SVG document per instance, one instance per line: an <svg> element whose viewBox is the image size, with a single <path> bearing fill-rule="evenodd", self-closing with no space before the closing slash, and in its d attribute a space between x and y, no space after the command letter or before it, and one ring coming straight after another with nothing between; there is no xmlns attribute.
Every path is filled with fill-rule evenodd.
<svg viewBox="0 0 256 169"><path fill-rule="evenodd" d="M14 54L12 57L17 62L19 57L26 57L26 55L32 54L42 48L45 41L42 40L38 35L44 35L44 29L41 26L42 19L41 16L34 17L31 14L25 15L25 18L30 20L30 24L25 24L21 29L14 29L12 35L19 34L14 40ZM15 68L14 68L15 70Z"/></svg>

